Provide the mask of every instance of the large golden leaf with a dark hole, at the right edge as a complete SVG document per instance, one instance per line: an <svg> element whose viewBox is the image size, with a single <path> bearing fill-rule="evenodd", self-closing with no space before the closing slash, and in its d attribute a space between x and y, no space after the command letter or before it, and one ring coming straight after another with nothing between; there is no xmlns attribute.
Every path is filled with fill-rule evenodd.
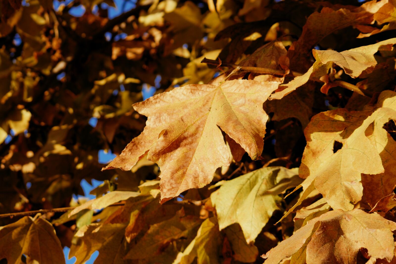
<svg viewBox="0 0 396 264"><path fill-rule="evenodd" d="M394 142L388 140L390 136L382 127L389 118L396 118L395 96L392 91L384 91L375 108L367 106L363 111L340 108L322 112L305 129L307 146L300 177L314 182L331 207L350 210L360 201L362 173L377 177L385 167L385 173L392 175L394 161L392 152L388 152L392 147L385 146L387 142L393 146ZM370 129L374 131L371 134Z"/></svg>

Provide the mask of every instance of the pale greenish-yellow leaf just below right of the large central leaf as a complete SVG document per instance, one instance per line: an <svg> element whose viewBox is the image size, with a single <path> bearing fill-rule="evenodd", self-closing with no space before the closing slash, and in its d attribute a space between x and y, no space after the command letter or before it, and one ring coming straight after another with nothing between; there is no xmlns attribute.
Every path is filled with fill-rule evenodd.
<svg viewBox="0 0 396 264"><path fill-rule="evenodd" d="M223 181L211 195L220 230L239 223L247 243L254 241L281 201L278 194L301 182L297 169L264 167Z"/></svg>

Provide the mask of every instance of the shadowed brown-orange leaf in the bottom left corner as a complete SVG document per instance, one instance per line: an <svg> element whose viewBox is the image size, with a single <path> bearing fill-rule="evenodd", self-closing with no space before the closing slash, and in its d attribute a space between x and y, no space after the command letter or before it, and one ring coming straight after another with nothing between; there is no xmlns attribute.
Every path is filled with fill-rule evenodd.
<svg viewBox="0 0 396 264"><path fill-rule="evenodd" d="M43 218L23 217L0 227L0 258L8 263L65 263L61 242L52 225Z"/></svg>

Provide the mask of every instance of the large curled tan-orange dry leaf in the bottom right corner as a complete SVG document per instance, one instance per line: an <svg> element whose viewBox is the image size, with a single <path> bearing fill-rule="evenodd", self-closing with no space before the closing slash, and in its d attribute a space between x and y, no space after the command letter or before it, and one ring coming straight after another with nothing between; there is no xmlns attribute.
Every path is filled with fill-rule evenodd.
<svg viewBox="0 0 396 264"><path fill-rule="evenodd" d="M356 263L360 249L367 249L372 258L393 258L392 231L396 223L360 209L341 209L324 213L297 230L263 255L265 264L278 264L284 258L301 254L307 264ZM300 263L300 262L299 262Z"/></svg>

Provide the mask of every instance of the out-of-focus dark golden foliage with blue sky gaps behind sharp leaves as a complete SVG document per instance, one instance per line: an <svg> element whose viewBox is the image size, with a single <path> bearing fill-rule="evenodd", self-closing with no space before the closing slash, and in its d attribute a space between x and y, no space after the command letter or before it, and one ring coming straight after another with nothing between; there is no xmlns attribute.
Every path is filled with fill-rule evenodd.
<svg viewBox="0 0 396 264"><path fill-rule="evenodd" d="M320 7L308 0L2 0L0 213L76 205L89 198L82 197L84 184L99 185L91 191L95 197L115 189L137 191L145 180L157 179L158 166L144 159L131 171L101 172L145 127L145 116L131 105L174 87L209 82L219 70L200 63L204 57L240 63L270 41L290 46ZM336 31L316 48L373 42L340 37L358 33L352 27ZM315 102L321 103L314 111L345 105L349 91L334 91L318 92ZM288 121L272 121L268 131ZM276 144L286 140L282 133L272 134L264 160L246 161L248 170L287 155L298 166L295 157L305 146L301 123L287 128L295 135L287 137L287 148ZM0 218L0 226L11 222ZM55 230L62 246L70 247L75 221ZM267 236L257 243L270 239L276 245Z"/></svg>

